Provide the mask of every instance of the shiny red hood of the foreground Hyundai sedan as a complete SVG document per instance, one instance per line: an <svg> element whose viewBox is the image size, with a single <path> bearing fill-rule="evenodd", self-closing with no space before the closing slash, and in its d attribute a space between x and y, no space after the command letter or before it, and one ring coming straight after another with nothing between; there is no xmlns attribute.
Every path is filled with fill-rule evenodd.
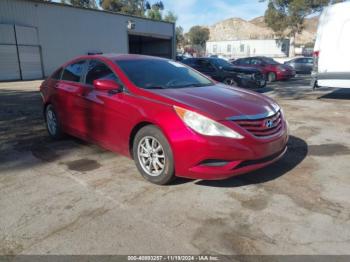
<svg viewBox="0 0 350 262"><path fill-rule="evenodd" d="M152 90L178 106L205 113L215 120L275 113L279 106L267 96L222 84L205 87Z"/></svg>

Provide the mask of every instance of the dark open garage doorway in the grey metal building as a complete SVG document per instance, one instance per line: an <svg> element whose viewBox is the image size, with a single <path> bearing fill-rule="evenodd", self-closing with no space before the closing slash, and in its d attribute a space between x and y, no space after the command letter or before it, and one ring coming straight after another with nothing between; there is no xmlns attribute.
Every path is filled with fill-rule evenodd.
<svg viewBox="0 0 350 262"><path fill-rule="evenodd" d="M129 35L129 53L172 58L172 39Z"/></svg>

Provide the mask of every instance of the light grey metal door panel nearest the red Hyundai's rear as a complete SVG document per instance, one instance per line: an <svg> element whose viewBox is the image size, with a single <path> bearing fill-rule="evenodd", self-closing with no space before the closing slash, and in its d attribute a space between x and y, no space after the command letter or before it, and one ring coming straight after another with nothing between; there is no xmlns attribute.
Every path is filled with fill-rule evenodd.
<svg viewBox="0 0 350 262"><path fill-rule="evenodd" d="M43 77L40 48L38 46L18 46L18 56L23 80Z"/></svg>

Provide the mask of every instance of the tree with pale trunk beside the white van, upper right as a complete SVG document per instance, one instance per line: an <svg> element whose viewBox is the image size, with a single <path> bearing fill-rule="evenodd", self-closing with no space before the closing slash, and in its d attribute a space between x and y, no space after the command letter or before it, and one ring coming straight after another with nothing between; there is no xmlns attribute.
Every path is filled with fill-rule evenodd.
<svg viewBox="0 0 350 262"><path fill-rule="evenodd" d="M277 36L290 38L289 56L294 56L295 36L303 30L304 19L334 2L333 0L269 0L265 11L265 22Z"/></svg>

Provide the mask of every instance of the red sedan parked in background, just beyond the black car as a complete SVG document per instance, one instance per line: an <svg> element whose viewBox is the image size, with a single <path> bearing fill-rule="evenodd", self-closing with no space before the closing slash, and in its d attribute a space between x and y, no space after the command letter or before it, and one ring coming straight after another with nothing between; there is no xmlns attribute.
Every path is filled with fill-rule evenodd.
<svg viewBox="0 0 350 262"><path fill-rule="evenodd" d="M258 68L269 82L286 80L295 76L295 70L292 67L282 65L264 56L239 58L233 62L233 65Z"/></svg>

